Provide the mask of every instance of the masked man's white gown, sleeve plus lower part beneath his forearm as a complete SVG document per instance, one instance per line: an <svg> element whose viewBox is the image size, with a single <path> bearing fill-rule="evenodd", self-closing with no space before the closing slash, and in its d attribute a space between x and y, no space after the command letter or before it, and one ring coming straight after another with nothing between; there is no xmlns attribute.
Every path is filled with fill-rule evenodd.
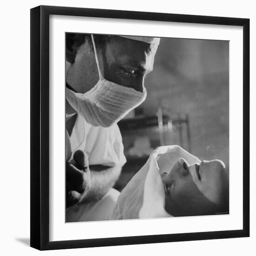
<svg viewBox="0 0 256 256"><path fill-rule="evenodd" d="M74 114L73 114L74 115ZM66 122L73 116L66 115ZM66 130L66 161L74 163L73 154L77 149L88 154L90 165L124 165L126 158L117 124L108 127L94 127L77 115L71 136ZM110 189L97 202L75 205L66 210L67 222L108 220L120 193Z"/></svg>

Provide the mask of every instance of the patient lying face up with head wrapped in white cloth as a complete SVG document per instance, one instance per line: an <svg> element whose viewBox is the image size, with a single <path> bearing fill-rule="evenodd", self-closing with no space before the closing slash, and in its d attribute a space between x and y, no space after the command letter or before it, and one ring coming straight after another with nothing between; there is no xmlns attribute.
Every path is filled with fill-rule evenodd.
<svg viewBox="0 0 256 256"><path fill-rule="evenodd" d="M179 146L164 146L128 182L110 219L228 212L229 179L224 163L200 161Z"/></svg>

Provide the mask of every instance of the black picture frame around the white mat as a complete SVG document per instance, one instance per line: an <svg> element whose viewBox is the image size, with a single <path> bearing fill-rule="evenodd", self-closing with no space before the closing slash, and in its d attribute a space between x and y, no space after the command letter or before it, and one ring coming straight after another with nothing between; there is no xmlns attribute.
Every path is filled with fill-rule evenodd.
<svg viewBox="0 0 256 256"><path fill-rule="evenodd" d="M243 229L49 242L49 15L243 27ZM31 9L31 247L39 250L249 236L249 19L39 6Z"/></svg>

